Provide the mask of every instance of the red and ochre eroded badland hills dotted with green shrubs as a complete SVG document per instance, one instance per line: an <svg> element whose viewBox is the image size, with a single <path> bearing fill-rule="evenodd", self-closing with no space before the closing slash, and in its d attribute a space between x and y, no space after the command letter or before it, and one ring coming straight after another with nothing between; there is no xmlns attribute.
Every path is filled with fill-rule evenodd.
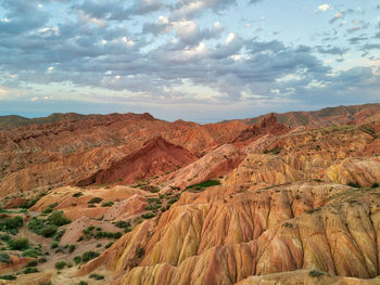
<svg viewBox="0 0 380 285"><path fill-rule="evenodd" d="M305 113L302 128L114 114L3 131L0 275L379 284L378 114Z"/></svg>

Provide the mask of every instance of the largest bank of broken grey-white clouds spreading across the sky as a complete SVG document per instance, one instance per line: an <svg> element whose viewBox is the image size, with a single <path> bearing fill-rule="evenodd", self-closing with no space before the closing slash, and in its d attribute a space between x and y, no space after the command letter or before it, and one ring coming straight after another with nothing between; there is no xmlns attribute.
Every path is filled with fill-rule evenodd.
<svg viewBox="0 0 380 285"><path fill-rule="evenodd" d="M0 87L7 88L7 98L20 92L35 106L66 96L144 105L268 106L349 102L357 98L352 90L373 98L379 78L355 60L373 55L367 53L375 53L379 44L369 39L380 35L375 22L362 16L363 10L337 7L330 23L345 23L344 27L326 23L317 28L327 33L304 41L286 27L277 36L267 28L277 23L269 16L259 35L252 35L256 27L249 33L237 28L231 21L235 9L256 12L257 7L246 4L258 2L42 0L38 7L34 1L4 0ZM318 11L332 10L320 3ZM56 11L62 14L56 16ZM259 15L262 11L257 22ZM253 18L244 23L255 25ZM349 51L354 63L346 60L343 65L342 55ZM338 72L343 67L347 70Z"/></svg>

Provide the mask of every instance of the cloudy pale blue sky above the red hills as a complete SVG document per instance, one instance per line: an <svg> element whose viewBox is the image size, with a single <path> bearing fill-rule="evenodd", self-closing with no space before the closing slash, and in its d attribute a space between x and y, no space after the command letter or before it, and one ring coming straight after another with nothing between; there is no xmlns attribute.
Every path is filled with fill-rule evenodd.
<svg viewBox="0 0 380 285"><path fill-rule="evenodd" d="M380 102L377 0L0 0L0 116Z"/></svg>

